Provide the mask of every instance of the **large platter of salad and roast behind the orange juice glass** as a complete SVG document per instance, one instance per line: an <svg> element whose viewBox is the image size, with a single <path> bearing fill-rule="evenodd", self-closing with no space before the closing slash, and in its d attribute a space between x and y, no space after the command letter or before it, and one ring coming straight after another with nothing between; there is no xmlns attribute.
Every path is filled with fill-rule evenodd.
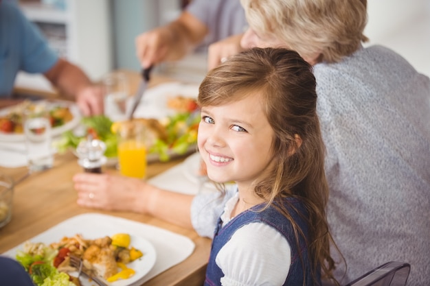
<svg viewBox="0 0 430 286"><path fill-rule="evenodd" d="M156 160L167 161L177 156L184 156L196 151L197 129L199 128L200 112L176 112L161 119L137 118L142 121L150 133L148 141L148 162ZM71 149L76 150L78 144L88 138L99 139L106 145L104 155L109 163L117 160L116 130L127 121L113 122L104 115L82 117L80 126L68 130L54 141L58 152Z"/></svg>

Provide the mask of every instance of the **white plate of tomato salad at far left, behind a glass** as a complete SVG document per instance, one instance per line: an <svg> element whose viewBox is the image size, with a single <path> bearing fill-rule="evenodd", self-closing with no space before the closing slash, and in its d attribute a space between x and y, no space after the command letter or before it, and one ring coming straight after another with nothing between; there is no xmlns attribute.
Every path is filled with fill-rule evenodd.
<svg viewBox="0 0 430 286"><path fill-rule="evenodd" d="M0 141L19 142L24 141L23 117L28 108L37 108L39 104L49 109L49 119L52 124L52 136L63 134L78 126L80 111L73 102L41 100L31 102L25 100L16 106L2 108L0 110Z"/></svg>

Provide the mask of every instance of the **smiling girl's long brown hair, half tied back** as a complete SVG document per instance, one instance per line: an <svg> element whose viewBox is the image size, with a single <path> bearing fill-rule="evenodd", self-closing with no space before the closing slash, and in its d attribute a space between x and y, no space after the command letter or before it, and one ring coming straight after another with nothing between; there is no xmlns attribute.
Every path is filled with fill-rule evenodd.
<svg viewBox="0 0 430 286"><path fill-rule="evenodd" d="M304 217L308 222L306 241L314 278L319 268L324 276L333 278L332 237L326 221L325 147L319 129L315 87L312 66L297 52L253 48L207 73L199 88L198 102L200 106L221 106L248 95L261 96L264 114L274 131L273 164L270 172L264 172L266 175L254 182L254 190L267 201L267 206L277 207L291 221L296 243L300 236L306 237L282 206L288 197L304 203L308 212Z"/></svg>

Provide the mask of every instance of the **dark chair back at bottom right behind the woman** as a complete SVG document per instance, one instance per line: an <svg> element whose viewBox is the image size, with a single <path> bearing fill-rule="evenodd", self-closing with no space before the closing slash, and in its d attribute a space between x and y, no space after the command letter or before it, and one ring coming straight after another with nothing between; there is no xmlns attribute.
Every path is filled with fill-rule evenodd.
<svg viewBox="0 0 430 286"><path fill-rule="evenodd" d="M411 265L390 261L345 286L405 286Z"/></svg>

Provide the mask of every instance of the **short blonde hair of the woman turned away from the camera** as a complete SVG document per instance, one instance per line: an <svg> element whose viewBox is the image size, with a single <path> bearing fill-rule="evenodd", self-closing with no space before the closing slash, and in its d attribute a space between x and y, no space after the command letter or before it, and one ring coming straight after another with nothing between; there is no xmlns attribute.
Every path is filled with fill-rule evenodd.
<svg viewBox="0 0 430 286"><path fill-rule="evenodd" d="M366 0L240 0L249 27L303 58L339 62L367 41Z"/></svg>

